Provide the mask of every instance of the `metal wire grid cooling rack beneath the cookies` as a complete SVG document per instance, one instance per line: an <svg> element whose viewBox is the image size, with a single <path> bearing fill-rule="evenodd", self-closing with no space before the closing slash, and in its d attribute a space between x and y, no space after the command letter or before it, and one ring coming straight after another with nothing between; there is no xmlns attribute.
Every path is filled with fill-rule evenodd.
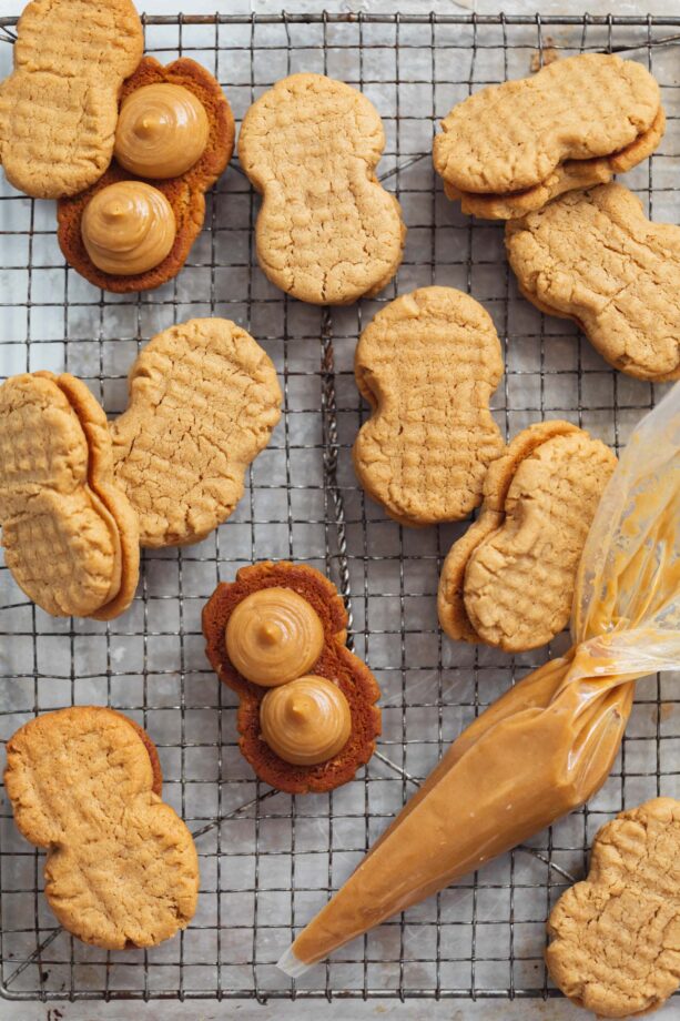
<svg viewBox="0 0 680 1021"><path fill-rule="evenodd" d="M0 19L13 39L16 19ZM42 856L0 818L0 992L10 999L550 997L544 923L583 875L595 830L625 806L678 796L680 699L673 678L641 681L613 772L587 809L437 898L355 941L297 983L274 967L376 835L473 717L511 681L565 648L509 658L443 639L435 594L443 556L465 525L403 529L364 497L351 446L365 418L352 364L358 332L396 293L430 283L469 291L494 316L506 375L494 398L506 434L567 417L617 448L658 396L617 375L576 327L518 297L503 226L448 203L429 159L436 121L487 82L527 74L550 47L626 51L662 85L668 131L627 175L657 220L677 221L678 18L463 16L159 17L146 48L186 53L215 73L237 119L278 78L315 70L356 84L385 121L382 180L409 234L397 279L374 301L319 310L288 301L256 267L257 200L234 161L210 196L205 229L177 280L133 296L102 293L63 262L50 203L2 182L0 370L69 370L110 414L122 410L140 345L190 315L243 323L274 358L285 414L254 463L232 519L197 546L149 552L133 607L109 625L60 620L27 603L0 570L0 738L35 712L95 701L122 709L159 745L165 798L201 859L191 928L149 952L106 953L55 928ZM7 73L11 47L0 47ZM653 203L652 203L653 200ZM384 732L356 780L292 798L257 782L238 754L234 699L209 670L200 611L242 564L291 557L337 582L351 640L383 689ZM677 679L676 679L677 684ZM455 806L451 807L455 810Z"/></svg>

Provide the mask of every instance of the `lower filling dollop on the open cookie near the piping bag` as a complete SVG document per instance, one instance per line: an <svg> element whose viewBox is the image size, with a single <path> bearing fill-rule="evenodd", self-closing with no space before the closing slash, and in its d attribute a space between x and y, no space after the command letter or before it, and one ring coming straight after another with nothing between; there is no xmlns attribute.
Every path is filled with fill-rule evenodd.
<svg viewBox="0 0 680 1021"><path fill-rule="evenodd" d="M314 674L267 691L260 722L270 748L296 766L332 759L352 731L347 699L333 681Z"/></svg>

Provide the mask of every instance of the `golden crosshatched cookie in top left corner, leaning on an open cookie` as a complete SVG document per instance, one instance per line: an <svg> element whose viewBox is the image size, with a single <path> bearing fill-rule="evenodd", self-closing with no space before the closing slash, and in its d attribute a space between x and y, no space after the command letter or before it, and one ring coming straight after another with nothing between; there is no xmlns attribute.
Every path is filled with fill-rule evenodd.
<svg viewBox="0 0 680 1021"><path fill-rule="evenodd" d="M111 162L123 79L143 51L131 0L32 0L0 84L0 162L37 199L89 188Z"/></svg>

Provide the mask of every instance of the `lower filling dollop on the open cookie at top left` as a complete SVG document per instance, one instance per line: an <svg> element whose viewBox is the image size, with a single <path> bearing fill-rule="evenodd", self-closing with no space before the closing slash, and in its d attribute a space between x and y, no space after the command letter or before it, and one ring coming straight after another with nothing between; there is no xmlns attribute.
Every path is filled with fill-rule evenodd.
<svg viewBox="0 0 680 1021"><path fill-rule="evenodd" d="M98 192L82 216L88 255L104 273L134 276L170 253L175 218L165 195L143 181L119 181Z"/></svg>

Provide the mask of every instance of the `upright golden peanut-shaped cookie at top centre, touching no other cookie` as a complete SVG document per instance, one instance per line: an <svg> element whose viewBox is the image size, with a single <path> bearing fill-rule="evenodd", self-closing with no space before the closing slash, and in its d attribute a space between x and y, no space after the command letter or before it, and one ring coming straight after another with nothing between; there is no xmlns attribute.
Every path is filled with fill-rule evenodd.
<svg viewBox="0 0 680 1021"><path fill-rule="evenodd" d="M247 111L238 158L264 196L257 259L282 291L346 305L392 280L406 228L375 175L384 148L373 104L323 74L284 78Z"/></svg>

